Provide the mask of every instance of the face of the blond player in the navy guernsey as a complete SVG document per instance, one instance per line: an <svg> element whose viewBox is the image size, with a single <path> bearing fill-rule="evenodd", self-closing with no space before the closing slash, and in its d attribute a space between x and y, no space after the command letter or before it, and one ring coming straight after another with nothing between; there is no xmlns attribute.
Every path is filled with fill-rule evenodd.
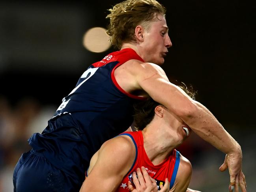
<svg viewBox="0 0 256 192"><path fill-rule="evenodd" d="M144 41L141 45L146 55L144 60L162 65L168 48L172 47L166 20L163 15L157 15L157 19L149 25L148 29L144 31Z"/></svg>

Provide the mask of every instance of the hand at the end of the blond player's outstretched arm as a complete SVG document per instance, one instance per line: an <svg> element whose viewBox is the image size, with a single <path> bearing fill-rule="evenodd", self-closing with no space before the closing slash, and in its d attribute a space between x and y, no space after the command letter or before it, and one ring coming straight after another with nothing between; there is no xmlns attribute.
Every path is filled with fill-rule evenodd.
<svg viewBox="0 0 256 192"><path fill-rule="evenodd" d="M239 192L241 188L242 192L246 192L245 175L241 170L242 154L229 154L226 155L224 163L220 166L220 171L225 171L227 168L230 174L230 185L228 189L230 192Z"/></svg>

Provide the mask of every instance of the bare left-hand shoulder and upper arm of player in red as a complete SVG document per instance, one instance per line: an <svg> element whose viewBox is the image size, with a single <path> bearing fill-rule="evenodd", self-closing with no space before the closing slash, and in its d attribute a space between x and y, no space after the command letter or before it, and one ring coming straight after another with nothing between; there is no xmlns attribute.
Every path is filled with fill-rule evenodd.
<svg viewBox="0 0 256 192"><path fill-rule="evenodd" d="M126 136L108 140L97 153L80 192L116 191L135 159L134 144Z"/></svg>

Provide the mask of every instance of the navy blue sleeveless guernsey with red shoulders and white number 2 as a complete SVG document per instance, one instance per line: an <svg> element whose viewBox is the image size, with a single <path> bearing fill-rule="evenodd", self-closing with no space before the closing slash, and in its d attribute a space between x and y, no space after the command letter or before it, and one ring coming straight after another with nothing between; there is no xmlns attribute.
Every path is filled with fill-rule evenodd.
<svg viewBox="0 0 256 192"><path fill-rule="evenodd" d="M42 134L35 133L28 140L33 150L84 181L92 155L133 123L133 103L144 99L126 93L114 77L116 67L131 59L143 62L126 48L90 65Z"/></svg>

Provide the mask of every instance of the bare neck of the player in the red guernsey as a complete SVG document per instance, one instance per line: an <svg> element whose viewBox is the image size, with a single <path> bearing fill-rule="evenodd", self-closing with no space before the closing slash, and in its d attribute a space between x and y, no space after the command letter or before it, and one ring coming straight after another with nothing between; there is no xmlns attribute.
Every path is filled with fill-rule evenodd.
<svg viewBox="0 0 256 192"><path fill-rule="evenodd" d="M168 129L163 129L163 127L149 124L142 130L142 134L145 151L154 165L163 162L178 146Z"/></svg>

